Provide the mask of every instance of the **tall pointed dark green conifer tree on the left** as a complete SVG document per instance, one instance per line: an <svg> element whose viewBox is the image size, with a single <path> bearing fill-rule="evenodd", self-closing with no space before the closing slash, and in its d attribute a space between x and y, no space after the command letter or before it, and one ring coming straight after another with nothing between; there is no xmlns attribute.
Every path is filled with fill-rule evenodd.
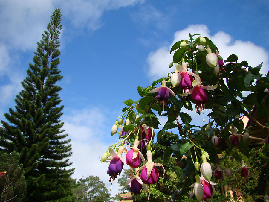
<svg viewBox="0 0 269 202"><path fill-rule="evenodd" d="M63 106L59 106L61 87L56 85L62 79L57 68L61 16L60 9L51 15L22 82L23 90L16 96L15 110L10 108L4 114L7 122L1 121L1 149L19 152L28 201L52 201L72 194L71 140L63 134L64 123L59 120Z"/></svg>

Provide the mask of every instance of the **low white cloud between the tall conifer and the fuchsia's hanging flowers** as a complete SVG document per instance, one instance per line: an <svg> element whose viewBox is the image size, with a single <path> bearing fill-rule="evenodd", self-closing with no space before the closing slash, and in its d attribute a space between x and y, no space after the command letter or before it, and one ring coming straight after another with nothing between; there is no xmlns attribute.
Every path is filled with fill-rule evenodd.
<svg viewBox="0 0 269 202"><path fill-rule="evenodd" d="M98 176L107 189L110 189L110 176L107 174L107 163L101 163L99 157L108 149L108 139L113 141L107 133L106 116L98 108L71 110L69 115L63 115L65 123L63 129L71 139L72 156L70 162L76 168L72 178L86 178L89 175ZM83 177L82 177L83 176ZM112 184L111 196L118 192L117 180Z"/></svg>

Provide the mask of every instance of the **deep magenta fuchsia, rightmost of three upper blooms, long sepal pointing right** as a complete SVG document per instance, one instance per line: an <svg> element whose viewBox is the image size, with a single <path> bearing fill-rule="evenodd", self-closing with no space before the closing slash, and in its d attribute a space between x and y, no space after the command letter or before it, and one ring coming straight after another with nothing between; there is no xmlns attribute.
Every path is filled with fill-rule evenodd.
<svg viewBox="0 0 269 202"><path fill-rule="evenodd" d="M197 75L196 75L197 76ZM193 88L190 89L190 93L192 94L192 99L196 104L196 111L199 113L203 112L203 121L204 121L204 107L203 104L207 102L207 94L204 91L206 90L214 90L218 87L218 84L215 86L203 86L201 85L201 78L197 76L195 80L192 81Z"/></svg>

